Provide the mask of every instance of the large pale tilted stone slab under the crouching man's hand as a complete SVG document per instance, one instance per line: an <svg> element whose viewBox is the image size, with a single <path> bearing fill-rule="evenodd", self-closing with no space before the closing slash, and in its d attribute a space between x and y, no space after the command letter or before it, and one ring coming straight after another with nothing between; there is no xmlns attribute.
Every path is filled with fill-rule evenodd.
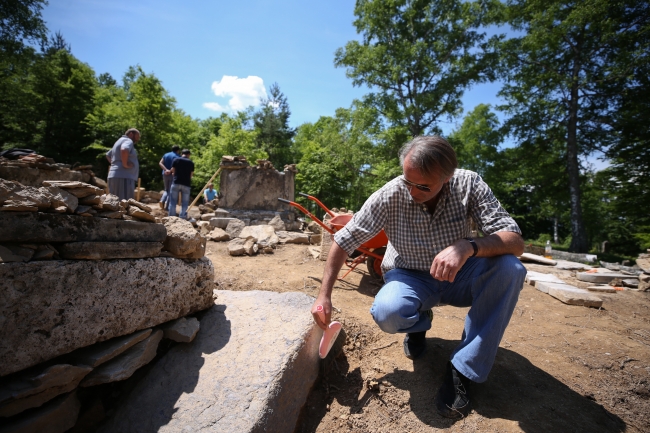
<svg viewBox="0 0 650 433"><path fill-rule="evenodd" d="M215 293L194 341L158 360L100 432L294 431L319 371L313 298Z"/></svg>

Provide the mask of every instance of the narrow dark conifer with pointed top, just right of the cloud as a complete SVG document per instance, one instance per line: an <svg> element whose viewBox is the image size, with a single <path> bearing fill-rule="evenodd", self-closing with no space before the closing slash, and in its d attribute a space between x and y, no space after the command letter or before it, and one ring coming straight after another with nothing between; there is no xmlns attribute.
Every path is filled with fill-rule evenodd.
<svg viewBox="0 0 650 433"><path fill-rule="evenodd" d="M257 146L269 155L277 169L296 162L291 153L291 138L295 130L289 127L289 103L278 83L269 88L268 99L261 99L262 108L254 115Z"/></svg>

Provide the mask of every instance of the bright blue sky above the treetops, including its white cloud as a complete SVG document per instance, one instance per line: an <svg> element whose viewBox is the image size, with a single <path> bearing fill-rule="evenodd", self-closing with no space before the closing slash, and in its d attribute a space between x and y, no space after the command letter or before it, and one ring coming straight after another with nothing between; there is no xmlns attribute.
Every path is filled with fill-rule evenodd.
<svg viewBox="0 0 650 433"><path fill-rule="evenodd" d="M195 118L257 104L277 82L295 127L365 93L333 63L337 48L358 39L353 10L353 0L51 0L43 17L97 74L119 81L139 64ZM497 90L471 89L465 110L494 104Z"/></svg>

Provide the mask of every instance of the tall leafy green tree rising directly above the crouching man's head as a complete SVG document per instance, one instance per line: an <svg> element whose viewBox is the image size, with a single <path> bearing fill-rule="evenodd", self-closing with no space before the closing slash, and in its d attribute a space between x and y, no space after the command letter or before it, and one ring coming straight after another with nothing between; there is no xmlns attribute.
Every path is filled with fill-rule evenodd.
<svg viewBox="0 0 650 433"><path fill-rule="evenodd" d="M439 133L438 121L461 111L464 91L492 80L500 36L479 28L497 3L461 0L357 0L354 25L362 41L339 48L334 64L346 67L363 100L392 126L417 136Z"/></svg>

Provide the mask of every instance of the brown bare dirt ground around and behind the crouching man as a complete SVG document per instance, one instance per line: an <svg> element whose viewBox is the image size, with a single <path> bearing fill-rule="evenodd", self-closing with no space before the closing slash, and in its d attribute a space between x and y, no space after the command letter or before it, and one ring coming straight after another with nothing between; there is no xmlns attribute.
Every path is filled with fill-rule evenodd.
<svg viewBox="0 0 650 433"><path fill-rule="evenodd" d="M209 242L207 255L223 290L316 296L324 265L305 245L231 257L227 243ZM585 287L569 271L526 267ZM324 367L297 433L650 431L650 294L599 295L603 307L593 309L526 284L490 377L470 390L472 412L454 422L436 413L434 399L468 309L434 308L427 351L411 361L403 335L383 333L370 316L380 288L365 265L335 286L333 318L343 324L346 344Z"/></svg>

